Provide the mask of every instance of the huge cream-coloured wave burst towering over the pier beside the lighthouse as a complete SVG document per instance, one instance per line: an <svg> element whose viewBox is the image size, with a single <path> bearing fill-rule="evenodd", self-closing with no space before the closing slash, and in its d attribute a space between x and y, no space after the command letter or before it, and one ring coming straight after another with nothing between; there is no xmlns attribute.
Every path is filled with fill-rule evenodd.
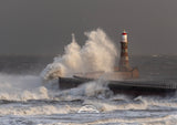
<svg viewBox="0 0 177 125"><path fill-rule="evenodd" d="M84 34L87 40L82 48L72 34L72 42L65 46L64 54L54 58L53 63L48 64L42 71L43 80L72 76L74 73L113 71L117 52L106 33L97 29Z"/></svg>

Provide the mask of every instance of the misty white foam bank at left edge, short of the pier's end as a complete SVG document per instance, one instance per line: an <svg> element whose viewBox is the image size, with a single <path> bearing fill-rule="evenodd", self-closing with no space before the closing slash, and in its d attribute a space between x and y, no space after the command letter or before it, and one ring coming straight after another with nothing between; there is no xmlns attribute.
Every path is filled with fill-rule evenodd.
<svg viewBox="0 0 177 125"><path fill-rule="evenodd" d="M27 101L49 98L48 88L34 75L0 74L0 100Z"/></svg>

